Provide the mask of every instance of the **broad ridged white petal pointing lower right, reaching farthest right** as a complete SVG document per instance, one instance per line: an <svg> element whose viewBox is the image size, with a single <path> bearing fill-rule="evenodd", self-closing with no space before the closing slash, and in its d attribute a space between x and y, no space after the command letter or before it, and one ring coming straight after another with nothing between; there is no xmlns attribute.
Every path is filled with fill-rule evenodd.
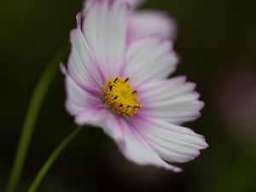
<svg viewBox="0 0 256 192"><path fill-rule="evenodd" d="M195 159L207 148L205 138L194 131L158 119L137 118L134 122L140 135L163 160L183 163Z"/></svg>

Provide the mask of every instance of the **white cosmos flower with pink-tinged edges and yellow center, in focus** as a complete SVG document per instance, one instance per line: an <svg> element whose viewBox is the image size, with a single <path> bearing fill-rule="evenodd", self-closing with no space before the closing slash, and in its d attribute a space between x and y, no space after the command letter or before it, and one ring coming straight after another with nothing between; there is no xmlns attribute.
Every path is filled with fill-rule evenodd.
<svg viewBox="0 0 256 192"><path fill-rule="evenodd" d="M200 115L203 102L177 66L172 41L150 35L129 41L131 6L94 0L77 15L66 76L68 113L78 125L101 127L139 165L180 172L167 163L195 159L203 136L180 124Z"/></svg>

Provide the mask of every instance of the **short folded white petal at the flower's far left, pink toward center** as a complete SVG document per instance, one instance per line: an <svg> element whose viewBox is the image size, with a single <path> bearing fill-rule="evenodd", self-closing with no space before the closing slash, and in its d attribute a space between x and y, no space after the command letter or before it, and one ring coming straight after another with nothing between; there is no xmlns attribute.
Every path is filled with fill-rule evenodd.
<svg viewBox="0 0 256 192"><path fill-rule="evenodd" d="M77 115L85 108L99 105L102 102L97 96L99 93L90 90L90 87L87 88L88 91L84 90L69 75L66 76L66 90L66 108L72 115Z"/></svg>

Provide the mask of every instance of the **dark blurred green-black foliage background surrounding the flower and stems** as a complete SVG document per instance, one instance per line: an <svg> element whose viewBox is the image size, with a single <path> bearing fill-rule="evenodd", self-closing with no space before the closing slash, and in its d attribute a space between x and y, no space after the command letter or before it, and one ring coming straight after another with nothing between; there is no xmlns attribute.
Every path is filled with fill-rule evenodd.
<svg viewBox="0 0 256 192"><path fill-rule="evenodd" d="M67 42L82 4L81 0L0 1L0 191L12 166L32 90L47 63ZM196 82L206 102L201 118L187 126L205 135L210 147L181 165L183 173L175 174L128 162L100 129L85 128L38 191L255 192L255 131L250 139L242 139L248 130L242 124L237 129L227 123L219 103L229 98L223 101L219 94L229 90L223 86L229 87L230 82L225 73L245 64L256 67L256 1L151 0L143 5L146 8L165 10L177 20L176 50L182 61L175 75L185 74ZM64 100L63 77L58 73L39 115L20 191L26 191L50 152L75 128ZM233 110L240 110L241 103L237 108L236 102L230 103ZM241 134L234 137L232 128Z"/></svg>

